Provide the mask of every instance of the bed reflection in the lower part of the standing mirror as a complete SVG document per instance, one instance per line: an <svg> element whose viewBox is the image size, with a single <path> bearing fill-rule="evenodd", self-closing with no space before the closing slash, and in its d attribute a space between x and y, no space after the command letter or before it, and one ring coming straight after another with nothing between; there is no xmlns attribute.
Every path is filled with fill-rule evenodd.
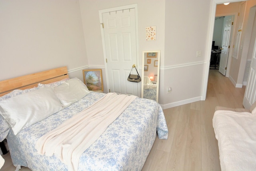
<svg viewBox="0 0 256 171"><path fill-rule="evenodd" d="M143 98L156 101L157 85L153 84L147 76L144 76L143 89Z"/></svg>

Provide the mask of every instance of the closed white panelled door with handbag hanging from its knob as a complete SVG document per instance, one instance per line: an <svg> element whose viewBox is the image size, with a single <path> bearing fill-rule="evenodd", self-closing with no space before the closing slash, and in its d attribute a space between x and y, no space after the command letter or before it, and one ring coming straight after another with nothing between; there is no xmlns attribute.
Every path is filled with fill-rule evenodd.
<svg viewBox="0 0 256 171"><path fill-rule="evenodd" d="M109 92L139 96L140 83L127 81L137 66L135 9L105 12L102 20Z"/></svg>

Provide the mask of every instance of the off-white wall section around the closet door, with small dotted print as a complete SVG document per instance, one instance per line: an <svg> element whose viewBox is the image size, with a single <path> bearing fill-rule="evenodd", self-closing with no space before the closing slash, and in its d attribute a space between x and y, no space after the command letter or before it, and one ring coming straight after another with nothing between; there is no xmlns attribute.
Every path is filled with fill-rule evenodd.
<svg viewBox="0 0 256 171"><path fill-rule="evenodd" d="M137 4L138 6L138 38L139 38L139 60L142 64L143 50L160 50L161 65L164 65L164 18L165 0L80 0L82 23L84 28L84 39L88 64L91 69L101 68L103 73L103 84L106 91L106 76L104 67L104 56L102 50L101 24L99 10ZM147 41L145 38L146 26L156 26L156 41ZM140 67L141 71L141 67ZM161 81L160 81L161 82Z"/></svg>

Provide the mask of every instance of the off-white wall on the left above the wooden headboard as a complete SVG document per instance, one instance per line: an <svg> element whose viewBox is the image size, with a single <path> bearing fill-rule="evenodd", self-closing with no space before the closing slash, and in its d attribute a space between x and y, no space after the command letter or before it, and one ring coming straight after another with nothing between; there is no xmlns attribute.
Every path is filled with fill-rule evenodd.
<svg viewBox="0 0 256 171"><path fill-rule="evenodd" d="M61 66L88 66L79 1L0 0L0 80Z"/></svg>

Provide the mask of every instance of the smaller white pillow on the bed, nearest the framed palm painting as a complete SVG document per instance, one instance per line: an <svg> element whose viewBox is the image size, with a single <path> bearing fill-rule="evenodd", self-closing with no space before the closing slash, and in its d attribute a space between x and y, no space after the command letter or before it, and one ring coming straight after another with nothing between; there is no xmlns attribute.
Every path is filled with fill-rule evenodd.
<svg viewBox="0 0 256 171"><path fill-rule="evenodd" d="M82 99L82 97L90 92L83 82L74 78L54 87L54 93L64 107Z"/></svg>

